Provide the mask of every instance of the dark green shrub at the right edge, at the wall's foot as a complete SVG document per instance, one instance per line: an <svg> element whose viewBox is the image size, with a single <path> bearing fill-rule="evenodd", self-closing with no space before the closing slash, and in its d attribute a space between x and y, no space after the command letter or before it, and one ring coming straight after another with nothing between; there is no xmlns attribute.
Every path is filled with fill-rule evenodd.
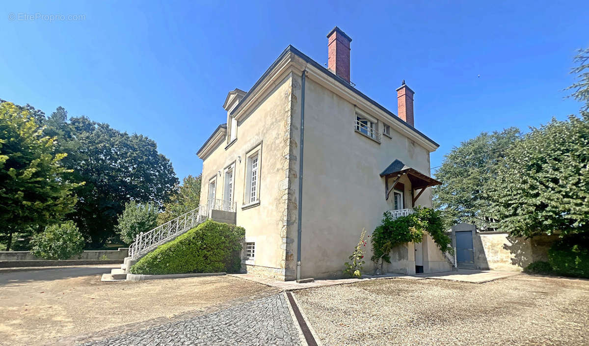
<svg viewBox="0 0 589 346"><path fill-rule="evenodd" d="M589 235L558 239L548 249L548 261L556 274L589 278Z"/></svg>

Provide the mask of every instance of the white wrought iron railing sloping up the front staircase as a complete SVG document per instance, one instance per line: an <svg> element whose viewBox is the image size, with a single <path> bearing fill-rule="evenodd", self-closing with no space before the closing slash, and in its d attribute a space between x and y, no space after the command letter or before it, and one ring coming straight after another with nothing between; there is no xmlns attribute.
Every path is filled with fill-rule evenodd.
<svg viewBox="0 0 589 346"><path fill-rule="evenodd" d="M149 232L141 232L135 237L135 242L129 246L129 257L136 259L164 244L168 240L194 228L207 219L207 206L201 205L186 214L166 222Z"/></svg>

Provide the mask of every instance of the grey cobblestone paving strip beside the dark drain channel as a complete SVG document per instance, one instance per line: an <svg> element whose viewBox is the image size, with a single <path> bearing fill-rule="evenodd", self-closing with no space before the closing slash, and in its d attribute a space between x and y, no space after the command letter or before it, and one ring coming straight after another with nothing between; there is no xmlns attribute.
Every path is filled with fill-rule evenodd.
<svg viewBox="0 0 589 346"><path fill-rule="evenodd" d="M79 346L300 346L283 294Z"/></svg>

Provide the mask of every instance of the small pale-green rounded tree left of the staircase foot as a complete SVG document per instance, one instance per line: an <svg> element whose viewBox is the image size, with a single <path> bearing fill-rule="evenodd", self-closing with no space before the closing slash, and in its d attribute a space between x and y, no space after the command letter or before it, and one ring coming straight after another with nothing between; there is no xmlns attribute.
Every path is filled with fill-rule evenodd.
<svg viewBox="0 0 589 346"><path fill-rule="evenodd" d="M153 203L137 204L135 201L125 204L123 214L118 217L117 230L121 239L131 244L135 235L147 232L157 225L157 207Z"/></svg>

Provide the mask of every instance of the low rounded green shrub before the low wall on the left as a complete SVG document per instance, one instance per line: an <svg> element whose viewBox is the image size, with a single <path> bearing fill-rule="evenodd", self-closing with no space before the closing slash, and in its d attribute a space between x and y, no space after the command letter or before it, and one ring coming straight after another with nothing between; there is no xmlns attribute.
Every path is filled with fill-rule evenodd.
<svg viewBox="0 0 589 346"><path fill-rule="evenodd" d="M84 237L72 221L50 225L35 234L31 254L45 259L68 259L84 251Z"/></svg>

